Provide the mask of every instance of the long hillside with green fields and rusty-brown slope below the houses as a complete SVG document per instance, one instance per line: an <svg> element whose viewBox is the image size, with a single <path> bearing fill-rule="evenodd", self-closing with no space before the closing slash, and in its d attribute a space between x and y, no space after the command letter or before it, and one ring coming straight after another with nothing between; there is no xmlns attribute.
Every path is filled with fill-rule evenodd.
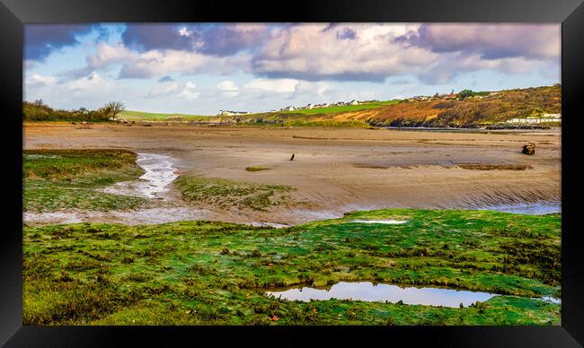
<svg viewBox="0 0 584 348"><path fill-rule="evenodd" d="M361 105L332 106L294 111L261 112L237 116L192 116L125 111L122 117L140 120L194 120L242 125L279 126L488 126L514 117L560 113L562 86L506 91L483 91L461 98L386 100ZM177 118L180 117L180 118Z"/></svg>

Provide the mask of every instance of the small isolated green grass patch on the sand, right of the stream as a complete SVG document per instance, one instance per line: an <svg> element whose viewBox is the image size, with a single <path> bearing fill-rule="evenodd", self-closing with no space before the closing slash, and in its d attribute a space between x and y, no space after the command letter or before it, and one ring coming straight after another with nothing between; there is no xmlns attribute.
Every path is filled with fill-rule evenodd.
<svg viewBox="0 0 584 348"><path fill-rule="evenodd" d="M295 204L288 193L292 187L264 185L226 178L206 178L186 174L174 180L182 198L191 202L206 202L221 208L236 206L253 210L267 210L274 205Z"/></svg>

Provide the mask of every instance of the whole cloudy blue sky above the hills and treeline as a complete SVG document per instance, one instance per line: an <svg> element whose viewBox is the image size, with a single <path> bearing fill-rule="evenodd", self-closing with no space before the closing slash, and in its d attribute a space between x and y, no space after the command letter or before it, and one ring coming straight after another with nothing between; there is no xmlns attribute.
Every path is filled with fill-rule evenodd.
<svg viewBox="0 0 584 348"><path fill-rule="evenodd" d="M24 99L215 115L559 83L560 24L27 24Z"/></svg>

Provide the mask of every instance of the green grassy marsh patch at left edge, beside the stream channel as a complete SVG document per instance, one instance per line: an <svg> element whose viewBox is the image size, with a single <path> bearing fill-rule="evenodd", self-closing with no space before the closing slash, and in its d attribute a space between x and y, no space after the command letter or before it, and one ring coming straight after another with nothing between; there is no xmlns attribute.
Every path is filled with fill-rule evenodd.
<svg viewBox="0 0 584 348"><path fill-rule="evenodd" d="M139 178L137 154L126 150L24 150L23 210L131 209L146 199L106 194L97 188Z"/></svg>

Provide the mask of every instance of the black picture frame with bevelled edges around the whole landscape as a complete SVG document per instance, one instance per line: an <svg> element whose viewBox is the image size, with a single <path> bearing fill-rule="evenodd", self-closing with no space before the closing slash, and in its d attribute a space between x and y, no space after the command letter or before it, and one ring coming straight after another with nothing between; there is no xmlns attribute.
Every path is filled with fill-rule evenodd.
<svg viewBox="0 0 584 348"><path fill-rule="evenodd" d="M155 0L0 0L0 106L4 228L0 238L0 344L6 346L432 344L577 347L584 344L584 253L579 159L584 89L581 0L293 1L270 4ZM22 326L22 43L34 22L562 22L561 326ZM579 112L580 111L580 112Z"/></svg>

